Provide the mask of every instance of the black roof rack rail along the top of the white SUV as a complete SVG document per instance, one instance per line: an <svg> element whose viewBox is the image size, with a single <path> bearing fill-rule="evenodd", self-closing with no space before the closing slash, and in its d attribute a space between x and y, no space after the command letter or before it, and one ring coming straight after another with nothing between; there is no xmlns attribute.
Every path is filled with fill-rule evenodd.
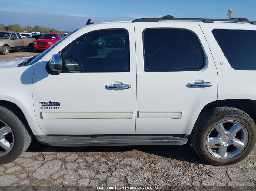
<svg viewBox="0 0 256 191"><path fill-rule="evenodd" d="M213 23L213 21L228 21L228 22L241 22L241 23L250 23L256 24L256 21L249 21L247 18L230 18L230 19L208 19L208 18L174 18L171 15L166 15L161 18L141 18L135 19L133 23L142 23L142 22L160 22L160 21L202 21L203 23Z"/></svg>

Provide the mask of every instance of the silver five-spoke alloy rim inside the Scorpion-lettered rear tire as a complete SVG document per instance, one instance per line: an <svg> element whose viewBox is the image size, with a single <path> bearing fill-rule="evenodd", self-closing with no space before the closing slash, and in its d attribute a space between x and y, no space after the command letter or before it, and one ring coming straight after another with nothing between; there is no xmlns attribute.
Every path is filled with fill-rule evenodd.
<svg viewBox="0 0 256 191"><path fill-rule="evenodd" d="M207 135L208 151L217 158L233 158L240 154L248 143L245 126L237 121L227 120L215 125Z"/></svg>

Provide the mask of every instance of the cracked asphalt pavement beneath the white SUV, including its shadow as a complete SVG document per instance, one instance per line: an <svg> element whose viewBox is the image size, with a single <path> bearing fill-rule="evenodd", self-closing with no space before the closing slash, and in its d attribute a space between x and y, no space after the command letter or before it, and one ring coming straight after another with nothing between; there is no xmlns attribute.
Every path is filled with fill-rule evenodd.
<svg viewBox="0 0 256 191"><path fill-rule="evenodd" d="M238 164L204 163L191 145L51 147L32 142L0 165L0 186L207 186L255 190L256 147ZM201 189L202 188L202 189ZM0 189L1 190L1 189Z"/></svg>

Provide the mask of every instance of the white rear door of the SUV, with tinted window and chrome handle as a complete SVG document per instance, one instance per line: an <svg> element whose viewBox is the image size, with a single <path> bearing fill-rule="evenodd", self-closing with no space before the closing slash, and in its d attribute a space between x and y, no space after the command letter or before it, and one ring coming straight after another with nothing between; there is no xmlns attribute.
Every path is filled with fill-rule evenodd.
<svg viewBox="0 0 256 191"><path fill-rule="evenodd" d="M217 70L201 28L196 22L134 24L136 134L190 134L203 107L217 100Z"/></svg>

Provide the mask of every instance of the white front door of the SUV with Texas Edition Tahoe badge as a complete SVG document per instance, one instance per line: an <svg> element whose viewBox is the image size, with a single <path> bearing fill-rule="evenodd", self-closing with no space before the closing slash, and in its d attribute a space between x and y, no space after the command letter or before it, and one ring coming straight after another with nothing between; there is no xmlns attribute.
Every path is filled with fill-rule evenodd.
<svg viewBox="0 0 256 191"><path fill-rule="evenodd" d="M80 29L85 33L77 38L74 36L80 30L71 35L69 41L74 40L60 50L63 71L59 75L49 74L46 62L37 63L33 102L38 124L45 134L135 134L134 26L108 26L112 28L100 30L95 25ZM105 47L101 37L121 37L129 43L109 43Z"/></svg>

